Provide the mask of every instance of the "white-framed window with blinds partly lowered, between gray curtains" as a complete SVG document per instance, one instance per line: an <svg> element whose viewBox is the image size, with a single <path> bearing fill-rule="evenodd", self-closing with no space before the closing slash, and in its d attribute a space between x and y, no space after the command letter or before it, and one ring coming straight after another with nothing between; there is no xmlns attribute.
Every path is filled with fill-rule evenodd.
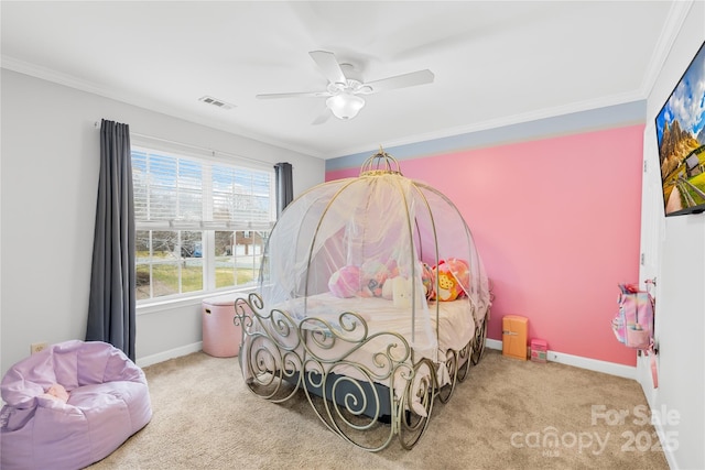
<svg viewBox="0 0 705 470"><path fill-rule="evenodd" d="M257 281L275 218L274 172L132 147L137 299Z"/></svg>

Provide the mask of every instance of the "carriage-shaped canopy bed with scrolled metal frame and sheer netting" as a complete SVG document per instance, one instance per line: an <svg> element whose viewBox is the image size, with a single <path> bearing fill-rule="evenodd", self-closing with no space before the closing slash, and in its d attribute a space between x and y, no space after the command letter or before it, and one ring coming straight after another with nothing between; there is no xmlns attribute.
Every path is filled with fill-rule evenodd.
<svg viewBox="0 0 705 470"><path fill-rule="evenodd" d="M434 398L479 360L490 291L470 230L437 189L381 147L358 177L290 204L268 240L257 293L236 302L249 389L303 390L321 420L370 451L411 449Z"/></svg>

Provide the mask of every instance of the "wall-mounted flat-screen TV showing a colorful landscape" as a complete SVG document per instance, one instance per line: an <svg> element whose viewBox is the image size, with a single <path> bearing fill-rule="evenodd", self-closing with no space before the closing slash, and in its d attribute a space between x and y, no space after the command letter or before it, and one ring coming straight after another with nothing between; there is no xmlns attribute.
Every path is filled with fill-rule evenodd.
<svg viewBox="0 0 705 470"><path fill-rule="evenodd" d="M705 211L705 42L657 116L668 216Z"/></svg>

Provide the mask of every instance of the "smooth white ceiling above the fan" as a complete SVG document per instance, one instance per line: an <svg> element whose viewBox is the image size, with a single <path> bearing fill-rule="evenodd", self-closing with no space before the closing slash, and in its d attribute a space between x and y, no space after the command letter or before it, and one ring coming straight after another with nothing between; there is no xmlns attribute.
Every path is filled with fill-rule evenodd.
<svg viewBox="0 0 705 470"><path fill-rule="evenodd" d="M644 99L690 4L2 1L2 67L329 159ZM325 98L256 98L324 90L316 50L435 80L318 125Z"/></svg>

